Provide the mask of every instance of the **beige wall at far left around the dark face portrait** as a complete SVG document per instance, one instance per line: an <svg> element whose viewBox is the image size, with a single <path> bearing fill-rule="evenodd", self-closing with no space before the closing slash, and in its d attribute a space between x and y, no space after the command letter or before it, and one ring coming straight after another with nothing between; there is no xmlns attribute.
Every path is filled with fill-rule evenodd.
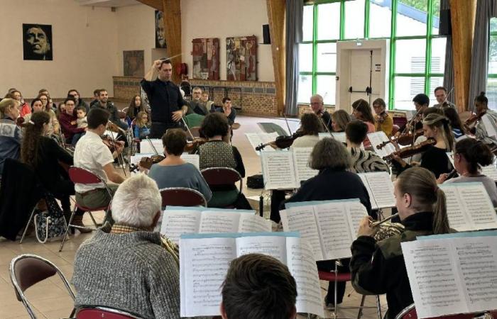
<svg viewBox="0 0 497 319"><path fill-rule="evenodd" d="M97 87L113 95L112 76L119 72L118 23L110 8L92 9L72 0L2 0L1 12L2 96L10 87L26 97L36 96L42 87L53 97L64 97L73 88L92 96ZM23 61L23 23L52 25L53 61Z"/></svg>

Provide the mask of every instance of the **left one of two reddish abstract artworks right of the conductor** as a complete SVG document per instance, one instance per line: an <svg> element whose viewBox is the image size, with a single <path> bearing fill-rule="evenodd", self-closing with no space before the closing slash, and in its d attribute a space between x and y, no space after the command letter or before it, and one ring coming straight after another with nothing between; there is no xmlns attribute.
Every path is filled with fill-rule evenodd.
<svg viewBox="0 0 497 319"><path fill-rule="evenodd" d="M194 79L219 79L218 38L193 39L192 56Z"/></svg>

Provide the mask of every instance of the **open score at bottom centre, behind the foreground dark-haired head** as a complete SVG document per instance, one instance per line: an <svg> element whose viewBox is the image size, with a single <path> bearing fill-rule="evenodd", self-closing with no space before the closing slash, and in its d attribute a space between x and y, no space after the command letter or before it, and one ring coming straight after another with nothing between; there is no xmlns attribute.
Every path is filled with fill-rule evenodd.
<svg viewBox="0 0 497 319"><path fill-rule="evenodd" d="M297 283L297 312L324 317L316 262L297 233L182 235L181 316L219 315L220 287L229 262L250 253L267 254L287 265Z"/></svg>

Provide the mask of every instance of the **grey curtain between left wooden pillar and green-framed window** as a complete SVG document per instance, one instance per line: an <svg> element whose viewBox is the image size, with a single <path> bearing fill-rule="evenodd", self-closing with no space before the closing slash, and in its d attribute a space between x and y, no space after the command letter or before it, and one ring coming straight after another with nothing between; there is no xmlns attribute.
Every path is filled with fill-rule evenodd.
<svg viewBox="0 0 497 319"><path fill-rule="evenodd" d="M303 0L286 1L286 69L285 113L297 115L297 92L299 81L298 45L302 41Z"/></svg>

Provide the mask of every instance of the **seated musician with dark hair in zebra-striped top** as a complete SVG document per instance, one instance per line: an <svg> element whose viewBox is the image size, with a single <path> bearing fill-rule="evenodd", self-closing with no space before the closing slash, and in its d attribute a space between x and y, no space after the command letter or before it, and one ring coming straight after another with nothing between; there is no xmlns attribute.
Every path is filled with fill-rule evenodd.
<svg viewBox="0 0 497 319"><path fill-rule="evenodd" d="M352 157L351 172L388 172L390 167L375 152L361 150L361 143L366 139L368 126L359 120L354 120L347 124L345 129L347 150Z"/></svg>

